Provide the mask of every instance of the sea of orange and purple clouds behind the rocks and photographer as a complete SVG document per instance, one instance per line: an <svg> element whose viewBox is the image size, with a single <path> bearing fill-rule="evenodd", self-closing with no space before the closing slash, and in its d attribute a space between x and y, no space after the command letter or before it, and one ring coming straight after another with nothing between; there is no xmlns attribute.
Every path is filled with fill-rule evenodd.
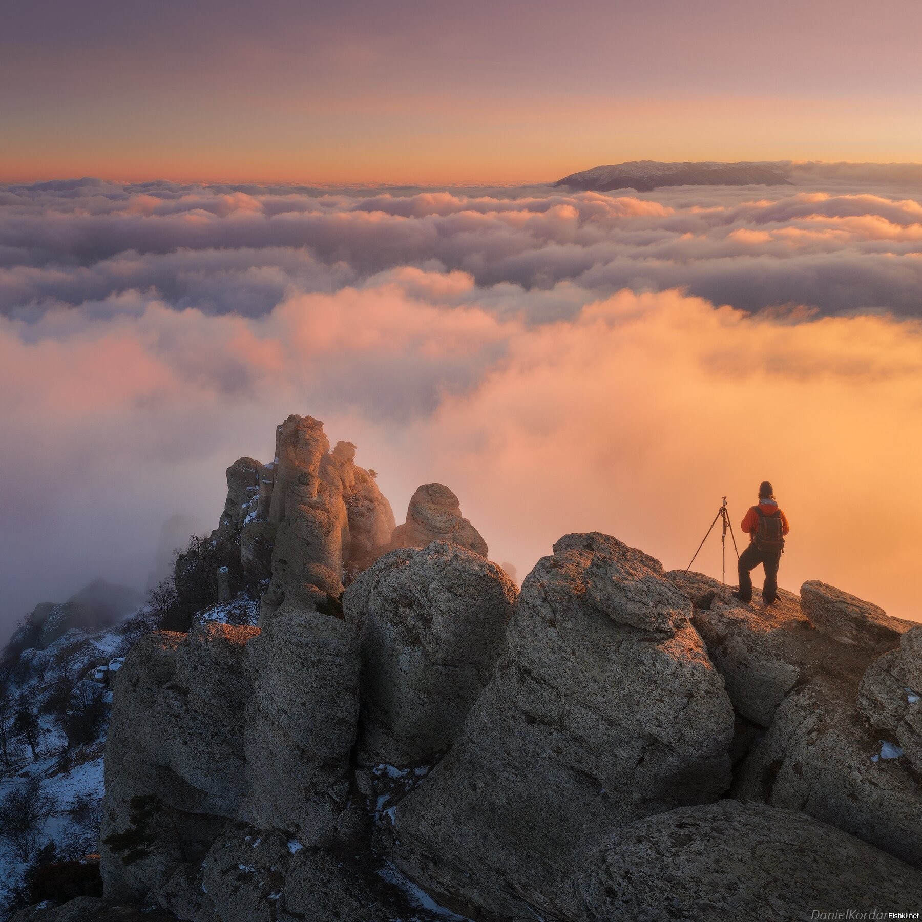
<svg viewBox="0 0 922 922"><path fill-rule="evenodd" d="M684 566L770 478L782 585L919 619L922 189L796 182L0 187L0 636L97 575L143 587L290 413L357 443L398 521L447 483L520 576L573 530Z"/></svg>

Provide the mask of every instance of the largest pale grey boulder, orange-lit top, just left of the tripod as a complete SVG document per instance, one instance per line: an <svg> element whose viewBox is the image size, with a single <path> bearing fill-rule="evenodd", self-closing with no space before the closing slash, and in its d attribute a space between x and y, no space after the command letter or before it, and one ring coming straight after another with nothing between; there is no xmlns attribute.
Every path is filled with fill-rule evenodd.
<svg viewBox="0 0 922 922"><path fill-rule="evenodd" d="M565 881L612 830L719 798L733 710L690 614L653 558L561 538L460 738L396 807L398 867L468 913L570 918Z"/></svg>

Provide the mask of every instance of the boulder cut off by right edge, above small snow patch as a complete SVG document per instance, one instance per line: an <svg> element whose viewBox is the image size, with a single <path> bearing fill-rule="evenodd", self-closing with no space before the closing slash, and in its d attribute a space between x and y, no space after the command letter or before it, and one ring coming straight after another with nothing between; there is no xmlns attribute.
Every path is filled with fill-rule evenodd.
<svg viewBox="0 0 922 922"><path fill-rule="evenodd" d="M922 625L902 634L899 647L870 666L861 680L858 708L899 743L922 774Z"/></svg>

